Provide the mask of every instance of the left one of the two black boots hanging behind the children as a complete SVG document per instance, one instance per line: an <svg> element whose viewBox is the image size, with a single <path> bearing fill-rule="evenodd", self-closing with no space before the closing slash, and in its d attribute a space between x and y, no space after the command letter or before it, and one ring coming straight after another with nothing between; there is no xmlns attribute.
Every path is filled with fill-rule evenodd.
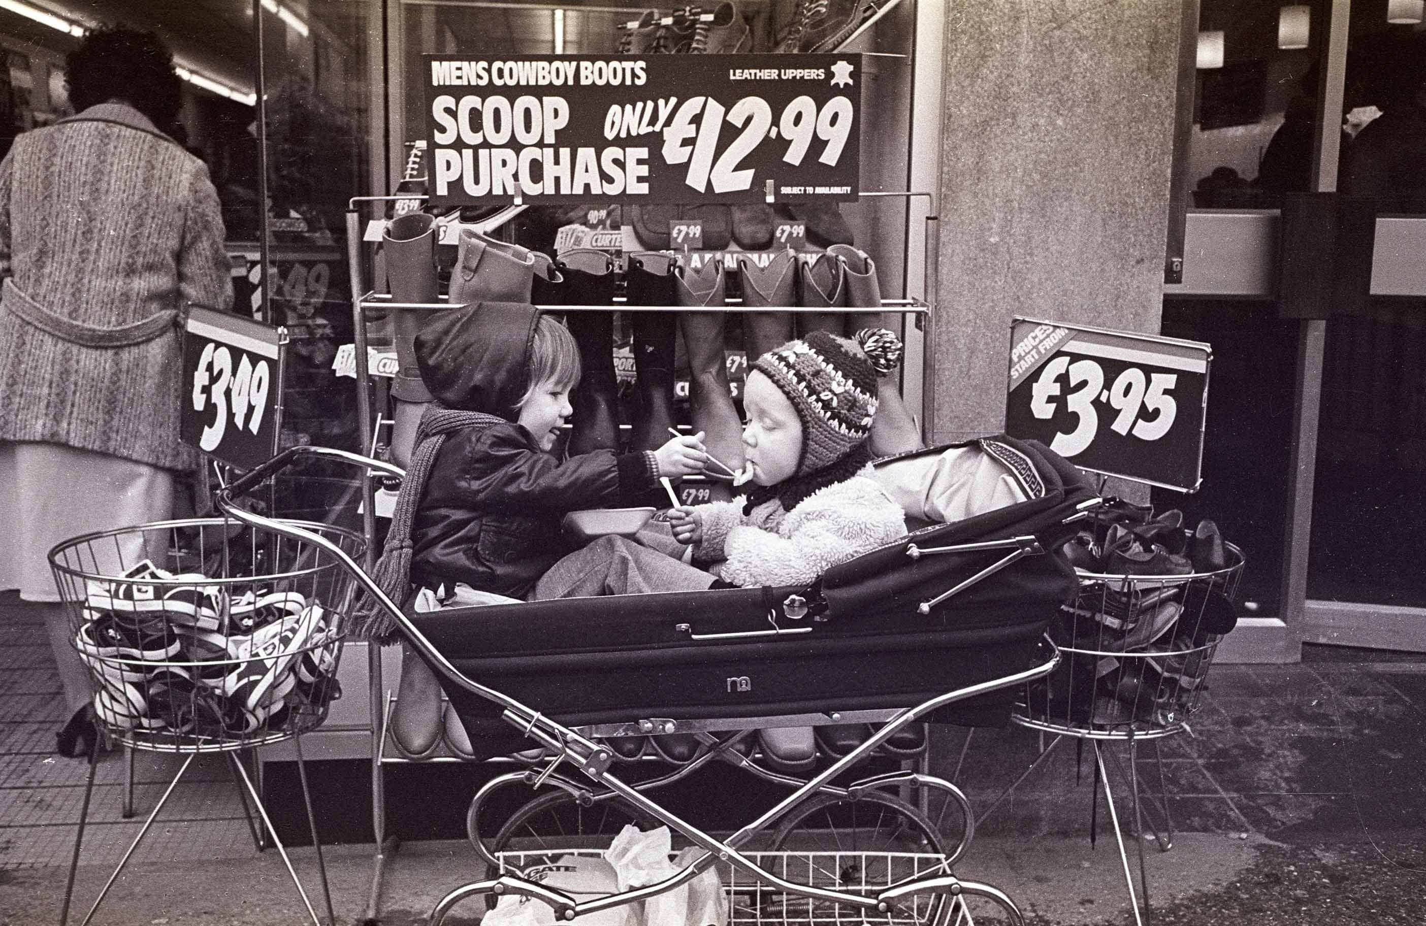
<svg viewBox="0 0 1426 926"><path fill-rule="evenodd" d="M603 251L576 248L559 255L562 305L613 305L615 264ZM540 286L546 289L545 285ZM568 312L569 333L579 346L582 373L575 389L575 425L569 454L619 450L619 376L615 373L613 312Z"/></svg>

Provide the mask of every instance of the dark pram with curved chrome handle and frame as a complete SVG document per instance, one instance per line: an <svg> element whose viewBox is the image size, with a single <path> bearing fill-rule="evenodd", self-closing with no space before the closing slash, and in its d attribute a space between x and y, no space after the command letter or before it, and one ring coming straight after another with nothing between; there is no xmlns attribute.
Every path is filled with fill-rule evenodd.
<svg viewBox="0 0 1426 926"><path fill-rule="evenodd" d="M1018 923L1018 909L1001 890L953 873L974 825L964 795L951 782L903 769L838 784L913 724L1004 722L1024 682L1055 667L1058 655L1044 631L1075 590L1074 570L1058 550L1098 499L1074 467L1038 444L1002 437L963 446L994 457L1022 487L1025 500L918 527L806 587L566 598L416 614L385 597L345 553L329 550L356 573L395 621L398 635L436 674L472 742L498 744L491 751L499 752L545 751L535 759L543 762L542 771L501 775L476 794L471 835L486 876L442 898L431 923L482 895L530 898L558 919L576 919L674 890L713 866L732 885L734 907L742 896L759 922L771 909L767 898L777 893L784 900L776 922L938 923L950 922L953 912L957 922L965 922L968 899L984 898ZM220 507L250 524L327 546L299 527L232 504L304 453L361 460L295 447L228 486L220 493ZM806 781L764 768L749 745L749 732L761 728L864 722L881 725ZM673 772L632 785L612 771L619 756L609 738L650 732L693 734L697 751ZM714 759L793 791L722 839L647 796ZM516 784L555 789L538 794L516 813L519 819L529 819L540 802L563 802L576 812L619 805L627 819L663 823L703 853L656 883L579 899L536 879L530 859L511 846L511 825L493 838L479 832L482 803ZM917 791L923 802L935 792L958 808L964 821L958 845L945 849L937 826L894 796L898 789ZM861 850L851 866L854 878L847 878L843 848L826 863L806 852L791 863L786 852L749 849L769 832L777 836L774 842L786 842L789 823L833 803L850 805L853 813L858 803L880 806L878 819L890 808L900 821L897 845L910 850L878 849L876 859ZM783 825L774 829L779 821ZM911 831L918 836L907 842ZM570 842L565 849L588 846ZM546 846L535 856L548 862L552 852ZM744 892L753 885L753 893L739 895L739 885Z"/></svg>

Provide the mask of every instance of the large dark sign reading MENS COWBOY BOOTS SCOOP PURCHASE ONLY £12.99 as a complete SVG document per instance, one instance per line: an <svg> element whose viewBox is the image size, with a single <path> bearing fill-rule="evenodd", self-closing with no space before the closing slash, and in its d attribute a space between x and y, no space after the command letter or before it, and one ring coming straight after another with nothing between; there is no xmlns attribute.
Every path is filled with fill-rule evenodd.
<svg viewBox="0 0 1426 926"><path fill-rule="evenodd" d="M858 194L856 54L428 54L422 68L438 208Z"/></svg>

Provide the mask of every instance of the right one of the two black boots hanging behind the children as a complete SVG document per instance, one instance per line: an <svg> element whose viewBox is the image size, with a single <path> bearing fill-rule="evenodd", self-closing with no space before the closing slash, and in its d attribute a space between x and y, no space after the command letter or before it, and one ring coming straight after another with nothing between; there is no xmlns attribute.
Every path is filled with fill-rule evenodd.
<svg viewBox="0 0 1426 926"><path fill-rule="evenodd" d="M629 305L674 305L673 279L672 255L649 251L629 255L629 269L625 271ZM676 312L630 312L630 318L640 409L629 450L657 450L677 422L673 415L673 353L679 316Z"/></svg>

